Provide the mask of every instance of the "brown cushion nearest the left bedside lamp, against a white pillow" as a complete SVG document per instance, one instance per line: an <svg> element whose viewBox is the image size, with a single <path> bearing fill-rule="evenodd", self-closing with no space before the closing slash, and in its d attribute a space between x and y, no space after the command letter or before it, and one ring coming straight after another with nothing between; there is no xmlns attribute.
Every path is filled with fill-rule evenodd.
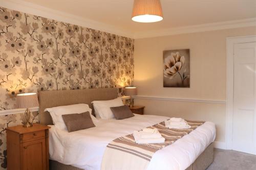
<svg viewBox="0 0 256 170"><path fill-rule="evenodd" d="M89 111L80 114L63 114L62 118L69 132L95 127Z"/></svg>

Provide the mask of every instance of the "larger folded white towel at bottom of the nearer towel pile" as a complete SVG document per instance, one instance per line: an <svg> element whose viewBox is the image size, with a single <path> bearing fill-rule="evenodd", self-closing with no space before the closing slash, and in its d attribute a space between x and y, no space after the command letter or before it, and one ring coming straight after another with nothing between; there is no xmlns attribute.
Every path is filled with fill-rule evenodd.
<svg viewBox="0 0 256 170"><path fill-rule="evenodd" d="M158 138L141 138L141 133L146 133L143 131L134 131L133 132L133 136L135 139L135 142L138 144L145 144L145 143L163 143L165 141L165 138L161 136L160 133L157 134L152 134L152 137L154 137L153 135L160 135L158 136Z"/></svg>

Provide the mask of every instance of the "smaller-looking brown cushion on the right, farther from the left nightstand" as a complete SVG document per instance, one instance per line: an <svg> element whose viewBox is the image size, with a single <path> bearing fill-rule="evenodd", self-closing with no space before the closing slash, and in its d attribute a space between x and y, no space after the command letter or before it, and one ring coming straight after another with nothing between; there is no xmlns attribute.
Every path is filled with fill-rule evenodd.
<svg viewBox="0 0 256 170"><path fill-rule="evenodd" d="M134 116L130 108L125 105L118 106L118 107L111 107L110 109L115 115L116 119L124 119L124 118L129 118Z"/></svg>

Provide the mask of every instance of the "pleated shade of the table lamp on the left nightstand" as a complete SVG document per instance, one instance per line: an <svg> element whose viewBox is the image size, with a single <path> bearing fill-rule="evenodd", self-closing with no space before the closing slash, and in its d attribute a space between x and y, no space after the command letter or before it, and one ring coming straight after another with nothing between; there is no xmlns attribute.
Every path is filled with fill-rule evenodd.
<svg viewBox="0 0 256 170"><path fill-rule="evenodd" d="M17 108L32 108L39 106L36 93L22 93L17 94L16 97Z"/></svg>

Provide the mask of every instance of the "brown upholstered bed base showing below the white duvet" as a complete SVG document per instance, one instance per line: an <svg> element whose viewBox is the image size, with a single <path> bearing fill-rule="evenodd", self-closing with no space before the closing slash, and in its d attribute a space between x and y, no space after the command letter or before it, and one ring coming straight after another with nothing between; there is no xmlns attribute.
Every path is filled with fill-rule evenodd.
<svg viewBox="0 0 256 170"><path fill-rule="evenodd" d="M214 144L210 143L204 152L199 155L193 164L186 170L205 170L214 161ZM54 160L50 160L50 170L83 170L71 165L65 165Z"/></svg>

